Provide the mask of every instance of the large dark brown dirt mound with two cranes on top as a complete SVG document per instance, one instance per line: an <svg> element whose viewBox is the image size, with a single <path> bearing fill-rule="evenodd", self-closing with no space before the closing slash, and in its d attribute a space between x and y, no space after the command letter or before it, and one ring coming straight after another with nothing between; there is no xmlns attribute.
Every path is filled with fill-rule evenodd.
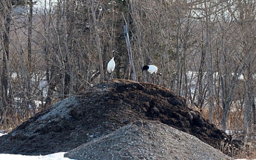
<svg viewBox="0 0 256 160"><path fill-rule="evenodd" d="M126 80L104 82L55 103L0 137L0 153L69 151L137 120L154 120L195 135L214 148L231 142L171 90Z"/></svg>

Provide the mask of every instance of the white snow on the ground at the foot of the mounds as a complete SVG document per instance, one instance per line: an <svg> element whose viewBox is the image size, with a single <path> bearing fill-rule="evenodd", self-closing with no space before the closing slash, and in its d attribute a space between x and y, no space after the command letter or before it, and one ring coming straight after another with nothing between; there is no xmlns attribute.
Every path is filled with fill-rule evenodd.
<svg viewBox="0 0 256 160"><path fill-rule="evenodd" d="M7 133L4 133L7 134ZM4 135L0 132L0 136ZM75 160L64 157L65 152L54 153L45 156L26 156L26 155L14 155L14 154L0 154L0 159L2 160ZM246 160L246 159L236 159L236 160ZM254 159L256 160L256 159Z"/></svg>

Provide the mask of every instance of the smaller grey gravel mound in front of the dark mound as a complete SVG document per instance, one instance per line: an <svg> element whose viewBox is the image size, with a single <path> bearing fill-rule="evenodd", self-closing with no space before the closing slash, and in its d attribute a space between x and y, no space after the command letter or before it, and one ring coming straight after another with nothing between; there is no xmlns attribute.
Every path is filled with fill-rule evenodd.
<svg viewBox="0 0 256 160"><path fill-rule="evenodd" d="M72 159L232 159L191 134L157 121L135 121L79 146Z"/></svg>

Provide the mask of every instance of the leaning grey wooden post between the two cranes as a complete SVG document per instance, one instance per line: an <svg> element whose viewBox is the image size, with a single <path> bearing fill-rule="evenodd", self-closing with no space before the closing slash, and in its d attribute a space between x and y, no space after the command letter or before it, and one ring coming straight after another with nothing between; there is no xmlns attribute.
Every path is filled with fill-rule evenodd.
<svg viewBox="0 0 256 160"><path fill-rule="evenodd" d="M132 59L132 50L131 50L131 44L130 44L128 31L127 31L127 23L125 21L123 12L122 12L122 15L123 15L123 21L124 21L124 36L125 36L125 40L126 40L126 45L127 45L128 55L129 55L129 61L130 61L130 65L131 65L132 80L137 81L137 78L136 78L136 75L135 75L135 72L134 72L133 59Z"/></svg>

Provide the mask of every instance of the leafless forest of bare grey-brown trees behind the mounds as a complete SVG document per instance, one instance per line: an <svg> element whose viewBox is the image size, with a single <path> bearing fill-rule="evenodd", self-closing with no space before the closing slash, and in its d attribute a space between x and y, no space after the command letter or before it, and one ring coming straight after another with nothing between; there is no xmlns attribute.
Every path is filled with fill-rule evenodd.
<svg viewBox="0 0 256 160"><path fill-rule="evenodd" d="M134 80L123 13L136 81L155 65L154 83L222 130L254 130L254 1L6 0L0 11L2 129L108 80L112 50L114 78Z"/></svg>

